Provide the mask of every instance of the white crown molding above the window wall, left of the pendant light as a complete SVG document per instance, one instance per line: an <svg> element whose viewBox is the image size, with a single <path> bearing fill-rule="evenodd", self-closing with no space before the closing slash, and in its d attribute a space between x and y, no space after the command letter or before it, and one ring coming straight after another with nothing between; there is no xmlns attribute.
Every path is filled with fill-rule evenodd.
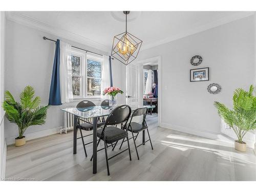
<svg viewBox="0 0 256 192"><path fill-rule="evenodd" d="M34 18L31 18L29 16L23 15L23 14L17 14L15 12L6 12L7 19L11 20L12 22L25 25L27 27L31 27L40 31L44 31L46 33L50 33L52 35L58 36L60 38L69 39L71 41L78 42L79 44L84 44L87 46L90 46L92 48L98 49L100 51L109 52L110 48L108 46L102 45L99 42L93 41L91 39L82 37L81 35L55 28L54 26L45 24L40 22L39 20L36 20Z"/></svg>

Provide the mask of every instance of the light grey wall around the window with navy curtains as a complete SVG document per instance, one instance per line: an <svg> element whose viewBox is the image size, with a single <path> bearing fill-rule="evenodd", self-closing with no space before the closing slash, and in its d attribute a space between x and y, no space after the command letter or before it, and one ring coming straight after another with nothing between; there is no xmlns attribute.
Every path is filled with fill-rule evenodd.
<svg viewBox="0 0 256 192"><path fill-rule="evenodd" d="M45 32L32 29L7 20L6 39L6 67L5 67L5 82L6 90L9 90L16 99L19 99L19 93L22 92L27 85L33 86L35 95L41 97L42 104L47 105L49 99L49 90L54 58L54 42L43 40L43 36L51 39L56 39L56 36ZM66 39L71 45L80 47L86 50L106 54L91 47L77 44ZM112 63L113 83L124 89L125 86L125 67L117 61ZM123 76L124 74L124 76ZM125 99L118 96L120 102L125 102ZM99 103L100 100L93 100ZM29 127L26 136L34 135L35 132L40 132L41 136L45 134L56 133L58 127L63 126L63 113L61 108L66 106L75 106L77 102L66 103L59 106L50 106L46 124L42 126ZM38 134L36 134L38 135ZM6 121L6 137L9 138L8 144L14 141L17 136L17 126Z"/></svg>

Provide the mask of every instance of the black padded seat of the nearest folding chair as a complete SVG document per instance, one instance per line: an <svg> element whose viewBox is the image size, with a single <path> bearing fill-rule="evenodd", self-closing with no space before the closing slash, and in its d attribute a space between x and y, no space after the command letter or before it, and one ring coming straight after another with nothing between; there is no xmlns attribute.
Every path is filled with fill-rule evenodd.
<svg viewBox="0 0 256 192"><path fill-rule="evenodd" d="M100 137L103 129L97 130L97 136ZM128 136L128 133L124 130L121 130L115 126L107 126L105 127L105 140L107 143L113 143L120 139L123 139Z"/></svg>

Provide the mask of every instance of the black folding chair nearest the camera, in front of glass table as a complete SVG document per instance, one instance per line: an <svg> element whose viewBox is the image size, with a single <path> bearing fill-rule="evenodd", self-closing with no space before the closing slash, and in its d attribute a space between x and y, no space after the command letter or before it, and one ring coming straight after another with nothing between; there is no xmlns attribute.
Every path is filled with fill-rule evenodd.
<svg viewBox="0 0 256 192"><path fill-rule="evenodd" d="M128 133L127 133L127 129L126 129L126 124L129 120L129 117L131 115L131 107L129 105L121 105L118 106L117 108L115 108L110 115L108 116L108 118L106 118L105 124L103 126L102 129L98 129L97 130L97 137L99 137L99 141L97 143L97 147L99 145L100 140L102 140L104 142L104 147L101 148L98 151L101 150L105 150L105 156L106 156L106 168L108 169L108 175L110 175L110 170L109 170L109 160L116 157L117 155L120 155L121 153L129 150L129 156L130 156L130 161L132 160L131 157L131 151L130 151L130 144L129 144L129 139L128 139ZM116 126L111 126L113 124L121 124L123 123L122 127L123 129L120 129ZM110 126L107 126L110 125ZM109 157L108 158L108 152L107 152L107 147L108 144L111 144L113 142L117 142L121 139L126 138L127 140L127 144L128 144L128 148L126 148L125 150L117 153L116 155ZM91 158L91 160L93 159L93 156Z"/></svg>

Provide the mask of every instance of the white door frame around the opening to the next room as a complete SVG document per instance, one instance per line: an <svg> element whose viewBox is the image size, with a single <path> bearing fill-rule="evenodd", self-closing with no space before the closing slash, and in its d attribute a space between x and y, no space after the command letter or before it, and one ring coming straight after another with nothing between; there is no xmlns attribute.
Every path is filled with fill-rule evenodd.
<svg viewBox="0 0 256 192"><path fill-rule="evenodd" d="M161 109L162 109L162 62L161 62L161 56L156 56L156 57L151 57L143 60L138 60L136 61L136 65L138 65L139 69L139 90L140 92L138 93L138 97L140 98L141 103L143 104L143 87L141 82L143 82L143 66L147 62L155 62L157 61L158 63L158 126L161 124ZM141 91L142 88L142 91ZM160 93L160 94L159 94Z"/></svg>

